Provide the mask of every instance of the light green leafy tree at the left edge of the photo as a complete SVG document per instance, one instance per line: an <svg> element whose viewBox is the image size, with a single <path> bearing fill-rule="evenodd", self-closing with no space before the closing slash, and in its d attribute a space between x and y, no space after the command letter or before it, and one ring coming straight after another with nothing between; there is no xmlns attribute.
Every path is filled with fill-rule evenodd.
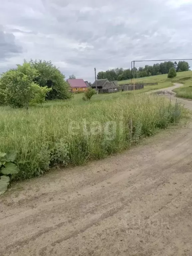
<svg viewBox="0 0 192 256"><path fill-rule="evenodd" d="M0 86L5 92L5 102L13 107L28 108L32 98L33 80L37 74L37 70L27 62L3 73Z"/></svg>

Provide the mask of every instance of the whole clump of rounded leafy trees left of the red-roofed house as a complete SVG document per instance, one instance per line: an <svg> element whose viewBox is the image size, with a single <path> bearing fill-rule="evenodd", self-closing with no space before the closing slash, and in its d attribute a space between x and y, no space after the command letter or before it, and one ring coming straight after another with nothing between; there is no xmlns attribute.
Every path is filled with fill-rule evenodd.
<svg viewBox="0 0 192 256"><path fill-rule="evenodd" d="M24 61L0 77L0 105L29 107L45 99L71 97L65 76L49 61Z"/></svg>

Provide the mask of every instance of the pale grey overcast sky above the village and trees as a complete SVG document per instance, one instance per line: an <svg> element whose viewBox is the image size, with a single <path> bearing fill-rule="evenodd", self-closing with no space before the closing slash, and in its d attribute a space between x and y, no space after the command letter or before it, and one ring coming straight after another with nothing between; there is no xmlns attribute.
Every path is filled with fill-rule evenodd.
<svg viewBox="0 0 192 256"><path fill-rule="evenodd" d="M94 67L192 58L192 0L0 1L0 72L45 59L93 81Z"/></svg>

